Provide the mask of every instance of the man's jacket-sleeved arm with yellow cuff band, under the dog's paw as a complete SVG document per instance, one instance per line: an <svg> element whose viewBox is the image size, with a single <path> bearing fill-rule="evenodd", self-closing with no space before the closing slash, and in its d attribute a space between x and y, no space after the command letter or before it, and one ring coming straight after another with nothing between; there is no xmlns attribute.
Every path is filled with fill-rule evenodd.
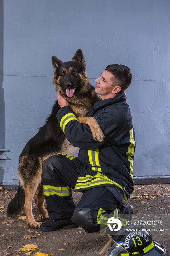
<svg viewBox="0 0 170 256"><path fill-rule="evenodd" d="M97 142L93 139L93 135L89 125L79 123L76 116L69 108L64 106L57 112L59 125L66 135L66 138L74 147L94 150L113 139L117 125L106 114L101 114L97 117L97 121L105 135L103 142ZM115 129L114 129L115 127ZM116 133L115 133L116 134Z"/></svg>

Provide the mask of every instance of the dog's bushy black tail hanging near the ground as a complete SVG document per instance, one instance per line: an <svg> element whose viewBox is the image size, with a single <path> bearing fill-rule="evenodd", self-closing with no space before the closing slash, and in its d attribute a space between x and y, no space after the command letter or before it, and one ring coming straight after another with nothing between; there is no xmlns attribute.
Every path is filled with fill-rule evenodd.
<svg viewBox="0 0 170 256"><path fill-rule="evenodd" d="M19 184L19 187L16 191L16 195L8 204L8 208L7 208L8 217L19 215L24 209L24 203L25 203L25 192L24 192L24 189Z"/></svg>

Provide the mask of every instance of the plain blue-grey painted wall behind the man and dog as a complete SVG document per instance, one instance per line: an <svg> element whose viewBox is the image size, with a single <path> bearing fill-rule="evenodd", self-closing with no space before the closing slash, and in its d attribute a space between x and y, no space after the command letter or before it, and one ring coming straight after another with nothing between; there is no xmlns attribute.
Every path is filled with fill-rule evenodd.
<svg viewBox="0 0 170 256"><path fill-rule="evenodd" d="M170 177L169 14L169 0L0 0L1 185L18 184L19 155L55 101L51 56L79 48L93 85L108 64L130 67L134 176Z"/></svg>

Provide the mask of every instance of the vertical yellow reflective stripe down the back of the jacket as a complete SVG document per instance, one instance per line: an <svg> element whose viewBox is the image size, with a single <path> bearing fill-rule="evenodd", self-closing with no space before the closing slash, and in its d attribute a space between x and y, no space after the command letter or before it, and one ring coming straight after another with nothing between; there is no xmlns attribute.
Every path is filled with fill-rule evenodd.
<svg viewBox="0 0 170 256"><path fill-rule="evenodd" d="M127 155L128 155L128 161L130 162L130 175L131 178L133 179L133 163L134 163L134 159L132 157L134 157L134 153L135 153L135 140L134 140L134 129L132 128L130 131L130 142L131 144L128 146L128 151L127 151Z"/></svg>

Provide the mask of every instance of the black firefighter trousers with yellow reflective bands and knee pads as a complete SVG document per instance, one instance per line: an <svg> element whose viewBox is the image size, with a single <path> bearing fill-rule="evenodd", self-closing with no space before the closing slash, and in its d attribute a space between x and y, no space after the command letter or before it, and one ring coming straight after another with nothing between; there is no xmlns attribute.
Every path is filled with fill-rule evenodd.
<svg viewBox="0 0 170 256"><path fill-rule="evenodd" d="M107 225L108 214L118 218L120 212L127 213L127 207L126 204L122 206L122 211L123 195L122 200L117 200L107 187L81 190L82 197L76 206L72 188L75 188L81 169L82 163L69 155L57 154L43 162L42 181L47 211L51 219L72 217L72 221L88 233L97 232L101 224ZM123 226L126 226L125 223Z"/></svg>

